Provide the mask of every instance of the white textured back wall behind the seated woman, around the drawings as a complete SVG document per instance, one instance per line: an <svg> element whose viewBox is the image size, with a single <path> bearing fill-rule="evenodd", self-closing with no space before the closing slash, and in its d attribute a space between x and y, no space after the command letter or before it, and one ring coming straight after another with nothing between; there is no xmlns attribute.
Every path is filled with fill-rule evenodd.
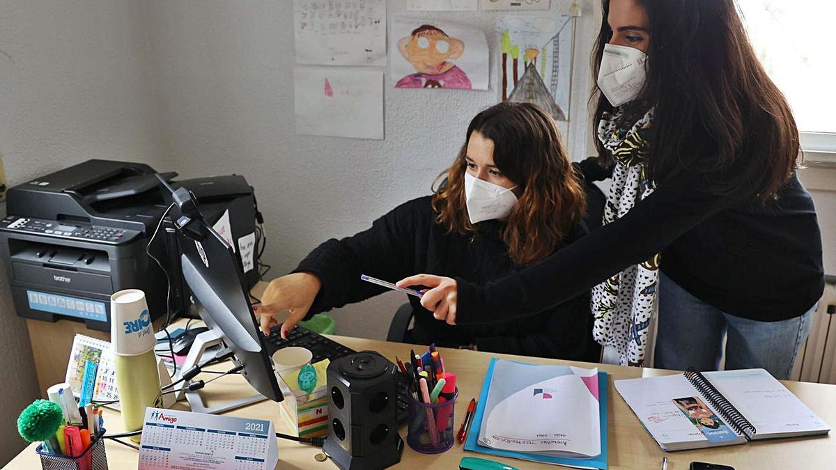
<svg viewBox="0 0 836 470"><path fill-rule="evenodd" d="M568 11L553 1L553 9ZM491 89L393 89L385 79L385 140L296 135L293 120L293 10L289 0L149 0L145 24L156 72L166 156L186 176L237 172L256 188L267 219L271 276L295 268L326 238L369 227L450 165L467 123L499 100L497 13L415 13L466 23L487 33ZM585 116L592 3L583 2L572 110ZM390 0L388 18L407 14ZM391 54L391 51L390 51ZM395 54L397 52L395 51ZM387 70L387 69L385 69ZM585 119L573 141L585 155ZM334 313L344 335L382 338L405 301L386 294Z"/></svg>

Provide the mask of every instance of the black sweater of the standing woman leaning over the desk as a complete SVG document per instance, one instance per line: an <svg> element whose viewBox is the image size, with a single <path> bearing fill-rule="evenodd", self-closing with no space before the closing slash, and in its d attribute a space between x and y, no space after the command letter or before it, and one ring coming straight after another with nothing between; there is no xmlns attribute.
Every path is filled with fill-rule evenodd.
<svg viewBox="0 0 836 470"><path fill-rule="evenodd" d="M824 289L813 199L797 176L764 204L717 196L700 177L681 172L624 217L527 269L482 285L457 278L456 321L535 314L654 253L661 253L660 269L676 284L742 318L797 317Z"/></svg>

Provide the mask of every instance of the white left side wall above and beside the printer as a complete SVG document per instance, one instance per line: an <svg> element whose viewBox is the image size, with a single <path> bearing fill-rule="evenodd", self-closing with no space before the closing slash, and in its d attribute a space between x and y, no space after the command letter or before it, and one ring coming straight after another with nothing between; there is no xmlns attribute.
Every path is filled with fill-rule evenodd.
<svg viewBox="0 0 836 470"><path fill-rule="evenodd" d="M89 158L160 162L139 0L5 0L0 50L18 66L11 133L0 142L11 185ZM5 205L0 206L5 212ZM0 262L2 263L2 262ZM0 266L0 466L25 446L18 414L38 391L25 323Z"/></svg>

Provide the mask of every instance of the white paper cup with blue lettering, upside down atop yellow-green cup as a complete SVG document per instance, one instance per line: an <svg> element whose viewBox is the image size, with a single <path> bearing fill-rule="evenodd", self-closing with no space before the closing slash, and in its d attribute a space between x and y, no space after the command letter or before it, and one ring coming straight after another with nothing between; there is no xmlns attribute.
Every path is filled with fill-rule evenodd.
<svg viewBox="0 0 836 470"><path fill-rule="evenodd" d="M117 355L140 355L154 349L154 325L145 292L125 289L110 296L110 343Z"/></svg>

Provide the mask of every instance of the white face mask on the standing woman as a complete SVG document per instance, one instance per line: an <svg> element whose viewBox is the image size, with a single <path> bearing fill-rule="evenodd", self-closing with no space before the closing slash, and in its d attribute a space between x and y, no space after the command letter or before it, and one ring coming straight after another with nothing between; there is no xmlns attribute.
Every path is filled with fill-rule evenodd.
<svg viewBox="0 0 836 470"><path fill-rule="evenodd" d="M645 86L647 55L639 49L604 44L598 88L613 106L635 100Z"/></svg>

